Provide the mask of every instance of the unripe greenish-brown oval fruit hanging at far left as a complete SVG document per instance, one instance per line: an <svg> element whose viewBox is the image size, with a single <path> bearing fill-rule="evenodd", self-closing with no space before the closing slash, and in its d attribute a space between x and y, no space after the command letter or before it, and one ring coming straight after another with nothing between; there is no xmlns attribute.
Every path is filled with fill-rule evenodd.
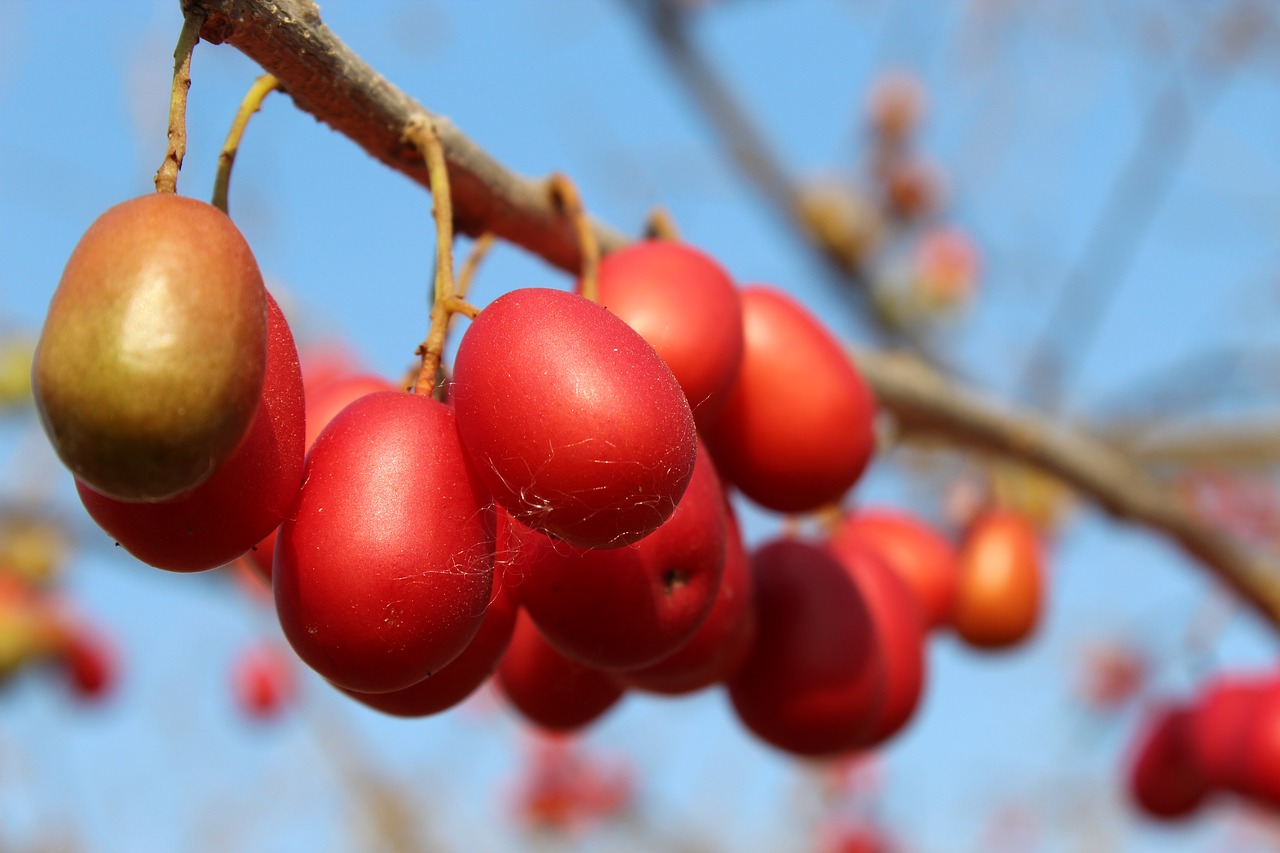
<svg viewBox="0 0 1280 853"><path fill-rule="evenodd" d="M257 410L266 296L227 214L152 193L90 225L32 361L36 409L78 480L163 501L209 479Z"/></svg>

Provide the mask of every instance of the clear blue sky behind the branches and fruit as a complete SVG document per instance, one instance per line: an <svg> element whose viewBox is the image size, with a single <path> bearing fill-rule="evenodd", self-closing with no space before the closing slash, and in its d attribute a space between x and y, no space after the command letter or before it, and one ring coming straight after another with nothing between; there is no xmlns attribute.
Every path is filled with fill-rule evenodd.
<svg viewBox="0 0 1280 853"><path fill-rule="evenodd" d="M1146 110L1169 79L1184 79L1185 156L1133 263L1098 273L1115 297L1073 356L1066 410L1083 419L1189 352L1274 348L1274 63L1188 72L1179 58L1198 24L1166 20L1166 41L1155 26L1148 40L1137 22L1161 20L1151 4L1005 5L722 3L696 33L799 175L858 167L861 99L879 72L905 67L923 79L922 145L947 175L948 219L984 255L979 298L940 339L965 375L998 392L1018 388L1016 366L1087 254L1116 175L1132 168ZM625 4L328 0L323 12L384 76L515 170L571 174L596 215L632 232L662 204L741 282L785 287L841 336L863 334L727 164ZM0 330L33 333L79 233L150 191L179 23L172 0L0 3ZM180 192L207 197L227 124L257 73L229 46L197 47ZM276 95L250 126L230 205L300 338L340 337L389 377L411 365L426 329L426 193ZM474 297L525 286L568 280L500 247ZM1266 402L1253 393L1220 409ZM113 552L35 432L26 420L3 425L0 496L51 494L73 519L86 547L65 583L118 635L125 670L104 708L77 707L38 678L0 695L0 844L58 827L86 850L351 849L351 792L316 726L356 739L371 766L404 783L453 849L517 844L502 806L518 758L509 716L385 720L311 678L303 712L246 726L227 672L237 648L275 630L273 615L214 575L168 575ZM874 466L858 500L937 514L940 496L901 471ZM777 532L774 517L746 517L750 542ZM1091 639L1138 638L1161 654L1161 686L1185 693L1206 667L1266 663L1274 639L1243 615L1208 663L1190 660L1181 644L1212 594L1206 575L1088 507L1055 542L1051 575L1051 611L1032 646L983 657L946 637L933 643L927 703L886 753L881 813L913 850L979 849L1001 804L1041 816L1037 850L1066 849L1065 827L1082 813L1123 849L1220 849L1222 809L1170 834L1116 804L1137 716L1106 722L1073 703L1076 656ZM643 815L664 831L717 849L803 849L804 771L750 742L718 693L630 698L590 742L637 765Z"/></svg>

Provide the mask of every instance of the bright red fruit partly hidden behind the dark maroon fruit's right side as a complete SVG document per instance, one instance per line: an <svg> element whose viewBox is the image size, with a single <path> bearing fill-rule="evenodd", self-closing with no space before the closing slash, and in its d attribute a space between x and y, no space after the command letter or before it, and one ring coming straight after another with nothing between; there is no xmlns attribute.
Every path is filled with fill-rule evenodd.
<svg viewBox="0 0 1280 853"><path fill-rule="evenodd" d="M865 747L881 744L911 720L924 694L924 622L915 597L879 552L859 542L828 548L858 584L876 634L883 697Z"/></svg>

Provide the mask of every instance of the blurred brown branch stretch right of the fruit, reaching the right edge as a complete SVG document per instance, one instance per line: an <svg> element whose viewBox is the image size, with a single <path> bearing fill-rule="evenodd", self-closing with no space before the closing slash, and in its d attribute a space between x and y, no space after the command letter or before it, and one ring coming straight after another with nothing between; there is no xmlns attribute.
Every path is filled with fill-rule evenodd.
<svg viewBox="0 0 1280 853"><path fill-rule="evenodd" d="M1198 521L1167 485L1129 456L1046 415L956 386L918 359L858 350L855 360L904 433L941 435L1057 476L1114 516L1174 539L1280 626L1280 562Z"/></svg>

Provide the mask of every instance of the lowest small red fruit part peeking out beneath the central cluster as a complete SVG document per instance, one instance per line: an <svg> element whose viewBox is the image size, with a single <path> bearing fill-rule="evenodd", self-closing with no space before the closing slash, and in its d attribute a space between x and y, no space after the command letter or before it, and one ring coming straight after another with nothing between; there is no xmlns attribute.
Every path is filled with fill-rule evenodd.
<svg viewBox="0 0 1280 853"><path fill-rule="evenodd" d="M494 680L526 720L539 729L559 733L590 725L623 693L604 672L552 648L524 608L516 615L516 630Z"/></svg>

